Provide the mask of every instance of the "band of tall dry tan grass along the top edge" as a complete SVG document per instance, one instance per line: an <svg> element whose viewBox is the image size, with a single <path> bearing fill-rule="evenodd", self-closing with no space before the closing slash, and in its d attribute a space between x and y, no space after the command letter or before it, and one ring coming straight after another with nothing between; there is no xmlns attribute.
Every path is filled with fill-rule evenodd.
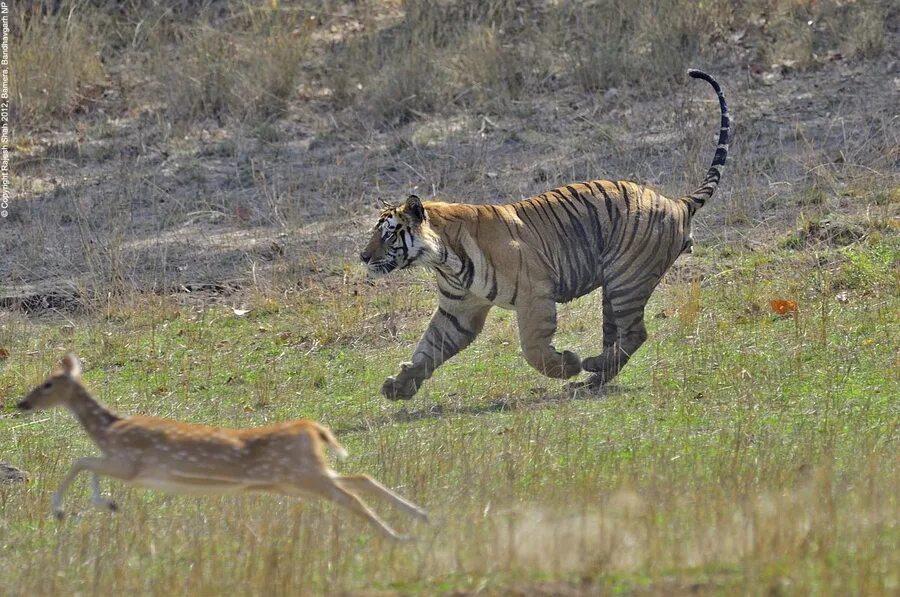
<svg viewBox="0 0 900 597"><path fill-rule="evenodd" d="M742 48L766 68L813 68L835 51L877 56L897 19L885 0L132 1L118 11L75 0L14 12L13 85L26 127L90 111L110 77L129 81L126 107L180 123L284 117L303 86L327 88L332 107L352 106L380 126L516 109L560 84L589 93L640 84L661 95L686 66ZM322 35L348 18L361 27ZM322 40L314 48L311 35Z"/></svg>

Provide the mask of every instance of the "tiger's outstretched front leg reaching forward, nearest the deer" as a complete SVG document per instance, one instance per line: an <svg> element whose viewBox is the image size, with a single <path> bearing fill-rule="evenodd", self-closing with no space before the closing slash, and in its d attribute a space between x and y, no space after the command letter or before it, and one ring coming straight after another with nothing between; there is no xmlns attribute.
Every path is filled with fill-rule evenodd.
<svg viewBox="0 0 900 597"><path fill-rule="evenodd" d="M490 303L471 295L461 300L441 296L412 362L401 363L400 373L384 381L381 393L389 400L412 398L435 369L472 343L490 309Z"/></svg>

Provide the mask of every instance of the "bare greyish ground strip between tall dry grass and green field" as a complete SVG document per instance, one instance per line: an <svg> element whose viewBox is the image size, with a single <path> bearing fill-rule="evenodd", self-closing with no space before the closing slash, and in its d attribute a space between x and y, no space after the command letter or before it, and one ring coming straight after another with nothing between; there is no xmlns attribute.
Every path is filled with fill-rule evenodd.
<svg viewBox="0 0 900 597"><path fill-rule="evenodd" d="M732 40L696 65L719 79L736 123L698 244L764 250L800 213L868 215L877 204L896 226L896 25L889 33L875 59L763 67L756 42ZM309 81L276 121L178 127L152 106L123 108L139 82L114 71L88 116L20 131L0 306L71 310L108 292L228 294L344 275L379 197L500 202L598 177L677 194L702 177L717 130L715 96L686 76L663 93L644 81L596 94L560 76L507 110L382 126L310 91L325 84L321 70Z"/></svg>

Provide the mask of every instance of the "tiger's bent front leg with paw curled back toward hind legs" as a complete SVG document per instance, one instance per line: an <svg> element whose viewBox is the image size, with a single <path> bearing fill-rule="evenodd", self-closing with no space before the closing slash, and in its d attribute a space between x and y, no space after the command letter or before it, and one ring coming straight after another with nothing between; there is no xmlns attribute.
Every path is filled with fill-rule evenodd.
<svg viewBox="0 0 900 597"><path fill-rule="evenodd" d="M516 309L519 339L528 364L546 375L566 379L581 372L581 359L572 351L553 346L556 333L556 301L551 298L523 300Z"/></svg>

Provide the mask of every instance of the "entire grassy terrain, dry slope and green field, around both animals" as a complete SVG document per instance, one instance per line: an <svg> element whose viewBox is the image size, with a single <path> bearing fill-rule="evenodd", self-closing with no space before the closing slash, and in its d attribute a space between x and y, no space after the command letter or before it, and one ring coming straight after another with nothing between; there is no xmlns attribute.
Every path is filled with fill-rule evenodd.
<svg viewBox="0 0 900 597"><path fill-rule="evenodd" d="M898 590L894 3L33 0L11 27L19 592ZM721 81L735 142L618 391L566 399L498 314L406 409L376 397L434 297L355 263L375 199L685 190L717 122L688 66ZM779 297L800 313L769 315ZM599 341L596 300L559 345ZM438 523L391 548L321 505L125 492L122 516L58 526L87 442L11 405L73 348L127 412L323 420Z"/></svg>

